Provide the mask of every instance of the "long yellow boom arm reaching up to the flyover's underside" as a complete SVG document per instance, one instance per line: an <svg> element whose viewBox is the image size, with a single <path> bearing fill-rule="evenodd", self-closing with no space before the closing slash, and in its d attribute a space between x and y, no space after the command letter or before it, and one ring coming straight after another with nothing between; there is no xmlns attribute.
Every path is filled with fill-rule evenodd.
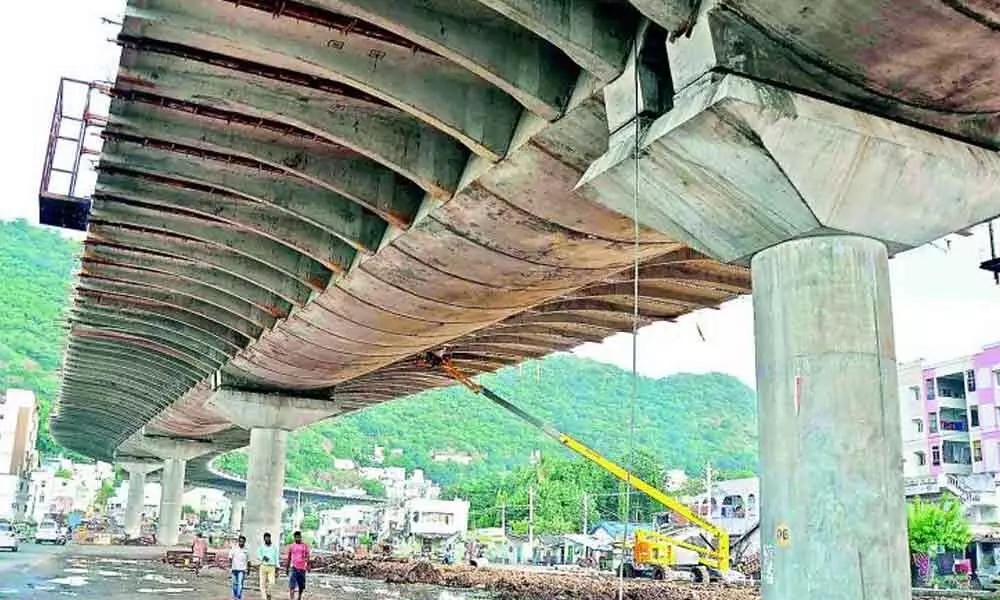
<svg viewBox="0 0 1000 600"><path fill-rule="evenodd" d="M499 405L504 410L511 412L521 420L526 423L540 429L549 437L555 439L557 442L569 448L576 454L579 454L583 458L589 460L590 462L601 467L615 478L621 480L626 485L635 488L636 490L646 494L656 502L659 502L667 509L673 513L679 515L684 520L689 523L700 527L702 530L708 534L716 537L718 540L715 548L702 548L701 546L696 546L690 544L683 540L677 540L670 538L669 536L658 535L658 538L664 539L671 544L674 544L681 548L686 548L697 552L702 556L702 561L708 566L715 567L720 571L728 571L730 569L730 555L729 555L729 532L721 527L716 526L711 521L702 518L700 515L696 514L694 511L685 506L682 502L669 496L656 487L646 483L639 477L637 477L631 471L628 471L621 465L615 463L612 460L605 458L601 453L597 452L593 448L587 446L583 442L573 438L572 436L565 434L558 429L555 429L551 425L545 423L538 417L528 413L518 407L515 404L507 401L505 398L489 389L486 386L480 385L469 378L465 373L455 367L450 361L433 353L426 353L422 360L426 362L431 367L440 367L445 373L450 375L456 381L467 387L470 391L485 396L493 403Z"/></svg>

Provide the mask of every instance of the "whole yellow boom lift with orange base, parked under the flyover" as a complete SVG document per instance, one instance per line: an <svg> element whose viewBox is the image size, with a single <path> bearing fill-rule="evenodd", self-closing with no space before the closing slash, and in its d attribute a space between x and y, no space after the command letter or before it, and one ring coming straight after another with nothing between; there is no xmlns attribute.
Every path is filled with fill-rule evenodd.
<svg viewBox="0 0 1000 600"><path fill-rule="evenodd" d="M712 579L718 578L721 574L730 570L729 533L726 530L717 527L712 524L711 521L702 518L676 498L668 496L659 489L646 483L635 474L629 472L613 461L608 460L593 448L586 446L575 438L562 433L561 431L553 428L551 425L544 423L537 417L521 410L514 404L511 404L499 396L493 390L476 383L454 364L452 364L446 357L441 357L432 352L427 352L421 355L420 361L431 368L441 369L473 393L485 396L504 410L514 413L523 421L537 427L563 446L569 448L583 458L586 458L608 473L611 473L627 485L630 485L636 490L646 494L653 500L665 506L674 514L690 523L693 527L696 527L700 529L701 532L708 534L707 537L705 535L701 536L701 540L705 542L705 546L700 546L698 544L691 543L691 541L681 540L677 537L665 535L663 533L643 530L636 531L635 543L632 546L632 562L623 565L623 568L628 570L637 570L642 565L650 565L653 567L654 577L662 577L662 569L687 570L692 571L695 575L695 579L700 581L706 580L710 576L709 570L715 571L715 573L711 573L711 575L714 575ZM710 541L712 538L715 539L714 545ZM697 558L695 560L685 561L679 556L680 552L678 552L678 549L687 550L688 552L686 554L696 556Z"/></svg>

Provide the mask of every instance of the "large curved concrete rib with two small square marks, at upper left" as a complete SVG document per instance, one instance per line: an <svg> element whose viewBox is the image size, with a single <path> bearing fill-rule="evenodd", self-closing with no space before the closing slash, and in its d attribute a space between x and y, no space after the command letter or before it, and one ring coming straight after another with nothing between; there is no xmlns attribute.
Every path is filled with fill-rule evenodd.
<svg viewBox="0 0 1000 600"><path fill-rule="evenodd" d="M440 59L221 2L148 1L141 9L129 7L122 32L342 83L492 161L506 154L522 110L503 91L464 69L449 69ZM336 52L331 52L331 39L342 44ZM373 60L373 50L378 59Z"/></svg>

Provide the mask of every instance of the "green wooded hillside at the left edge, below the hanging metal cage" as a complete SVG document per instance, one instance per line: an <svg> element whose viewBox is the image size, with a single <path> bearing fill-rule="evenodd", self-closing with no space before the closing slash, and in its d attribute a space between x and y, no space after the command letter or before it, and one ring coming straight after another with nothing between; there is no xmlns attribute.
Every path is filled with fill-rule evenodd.
<svg viewBox="0 0 1000 600"><path fill-rule="evenodd" d="M27 221L0 221L0 389L40 399L38 448L57 450L48 414L59 389L64 315L80 244Z"/></svg>

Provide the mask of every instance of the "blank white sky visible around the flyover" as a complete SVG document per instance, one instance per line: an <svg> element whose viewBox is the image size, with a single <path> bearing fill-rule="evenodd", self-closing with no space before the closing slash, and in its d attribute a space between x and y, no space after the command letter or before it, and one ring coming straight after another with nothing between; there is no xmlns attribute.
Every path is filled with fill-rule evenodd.
<svg viewBox="0 0 1000 600"><path fill-rule="evenodd" d="M120 21L123 6L122 0L32 0L8 8L0 19L0 56L6 57L0 115L7 140L0 146L0 219L37 221L38 181L59 77L113 78L118 48L108 40L118 28L101 18ZM988 246L983 228L975 232L971 238L950 236L947 252L946 243L938 242L892 261L900 360L971 354L1000 340L1000 288L978 268ZM628 335L586 344L578 353L624 368L632 364ZM652 376L720 371L753 385L750 299L643 329L638 367Z"/></svg>

